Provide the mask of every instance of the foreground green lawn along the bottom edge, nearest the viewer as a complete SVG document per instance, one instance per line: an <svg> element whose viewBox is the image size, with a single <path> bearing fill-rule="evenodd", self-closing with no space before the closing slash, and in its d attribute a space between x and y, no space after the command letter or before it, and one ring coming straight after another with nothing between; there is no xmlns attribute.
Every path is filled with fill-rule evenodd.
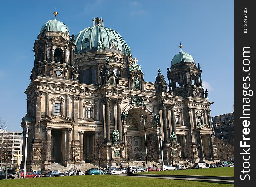
<svg viewBox="0 0 256 187"><path fill-rule="evenodd" d="M123 187L148 187L148 186L168 186L168 187L234 187L231 184L218 184L197 181L172 180L172 179L155 179L128 176L112 176L112 175L85 175L85 176L66 176L66 177L46 177L31 179L7 179L0 180L0 186L36 186L36 187L58 187L58 186L89 186L89 187L105 187L105 186L123 186Z"/></svg>

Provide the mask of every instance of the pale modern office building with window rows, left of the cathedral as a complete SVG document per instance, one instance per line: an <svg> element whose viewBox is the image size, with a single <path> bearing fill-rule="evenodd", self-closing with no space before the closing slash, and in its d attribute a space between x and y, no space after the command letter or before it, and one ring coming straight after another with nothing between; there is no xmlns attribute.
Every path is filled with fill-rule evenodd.
<svg viewBox="0 0 256 187"><path fill-rule="evenodd" d="M7 169L17 168L17 157L14 155L22 154L23 136L22 132L1 131L0 130L0 168L5 168L7 161ZM19 165L21 164L19 158Z"/></svg>

